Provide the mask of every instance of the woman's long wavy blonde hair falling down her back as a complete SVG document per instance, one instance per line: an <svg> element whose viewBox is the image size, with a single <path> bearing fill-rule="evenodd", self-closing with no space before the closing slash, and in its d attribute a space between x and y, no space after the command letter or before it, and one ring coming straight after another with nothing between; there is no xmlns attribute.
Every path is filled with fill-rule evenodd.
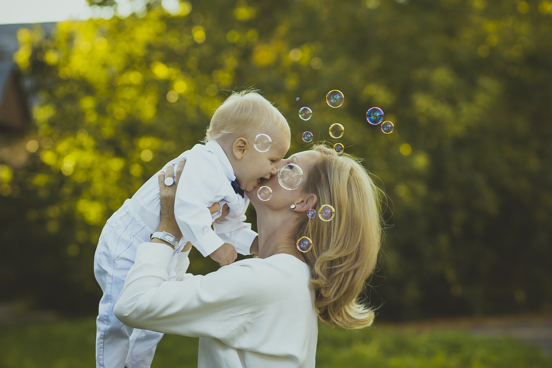
<svg viewBox="0 0 552 368"><path fill-rule="evenodd" d="M375 313L362 305L360 293L374 271L381 243L380 189L352 156L323 145L322 157L309 169L304 191L317 196L315 210L329 204L331 221L301 217L295 239L307 236L313 246L303 253L322 322L344 328L368 327Z"/></svg>

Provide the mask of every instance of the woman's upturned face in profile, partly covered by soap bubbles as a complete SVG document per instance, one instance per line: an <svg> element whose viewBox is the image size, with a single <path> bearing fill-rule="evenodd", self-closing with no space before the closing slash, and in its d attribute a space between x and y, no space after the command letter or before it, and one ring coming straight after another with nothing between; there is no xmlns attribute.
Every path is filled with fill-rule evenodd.
<svg viewBox="0 0 552 368"><path fill-rule="evenodd" d="M285 208L294 204L294 202L303 194L303 185L305 183L306 177L309 175L309 170L313 163L316 162L317 159L319 159L321 156L320 152L316 151L302 151L295 153L291 155L288 158L282 159L278 165L277 165L277 174L270 176L269 179L261 179L261 182L257 185L256 188L254 188L250 192L247 193L247 198L250 199L253 206L255 206L256 209L259 209L260 207L269 207L271 209L281 209ZM302 172L303 172L303 180L301 184L299 184L299 187L294 190L288 190L282 188L282 185L278 183L278 172L280 172L280 169L282 169L285 165L289 163L294 163L298 165ZM257 196L257 190L261 186L266 185L269 186L270 189L272 189L272 197L268 201L262 201Z"/></svg>

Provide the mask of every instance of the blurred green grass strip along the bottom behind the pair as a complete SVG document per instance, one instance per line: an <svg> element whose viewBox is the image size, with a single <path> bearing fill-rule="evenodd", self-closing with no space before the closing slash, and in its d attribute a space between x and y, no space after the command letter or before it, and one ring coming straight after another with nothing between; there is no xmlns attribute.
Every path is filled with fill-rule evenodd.
<svg viewBox="0 0 552 368"><path fill-rule="evenodd" d="M0 327L0 367L94 367L95 319ZM197 367L198 339L164 335L152 368ZM317 367L552 368L536 345L461 330L418 333L386 327L347 331L320 326Z"/></svg>

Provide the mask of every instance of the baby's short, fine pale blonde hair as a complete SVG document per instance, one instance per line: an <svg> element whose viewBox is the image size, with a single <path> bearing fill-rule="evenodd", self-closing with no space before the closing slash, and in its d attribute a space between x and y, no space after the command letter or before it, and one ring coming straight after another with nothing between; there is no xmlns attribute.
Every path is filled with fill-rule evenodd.
<svg viewBox="0 0 552 368"><path fill-rule="evenodd" d="M258 92L257 89L232 92L213 114L203 142L226 135L252 135L259 128L272 131L281 128L291 136L284 115Z"/></svg>

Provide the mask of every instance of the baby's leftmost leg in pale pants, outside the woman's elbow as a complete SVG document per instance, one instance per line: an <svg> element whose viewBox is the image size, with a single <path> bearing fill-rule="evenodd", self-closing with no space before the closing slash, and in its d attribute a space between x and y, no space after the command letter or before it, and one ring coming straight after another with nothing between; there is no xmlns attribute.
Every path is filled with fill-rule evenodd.
<svg viewBox="0 0 552 368"><path fill-rule="evenodd" d="M96 367L123 368L132 328L119 321L113 307L134 264L136 247L147 241L150 230L122 207L105 225L94 255L94 275L103 296L96 319Z"/></svg>

